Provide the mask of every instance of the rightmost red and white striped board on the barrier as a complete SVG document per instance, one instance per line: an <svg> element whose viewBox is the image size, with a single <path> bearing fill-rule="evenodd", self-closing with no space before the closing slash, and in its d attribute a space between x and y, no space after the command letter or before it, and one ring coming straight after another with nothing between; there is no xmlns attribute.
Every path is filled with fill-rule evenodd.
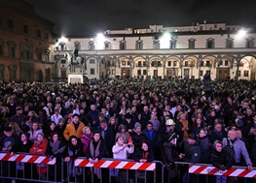
<svg viewBox="0 0 256 183"><path fill-rule="evenodd" d="M221 170L216 167L190 165L189 173L256 178L256 169L248 170L244 168L230 168Z"/></svg>

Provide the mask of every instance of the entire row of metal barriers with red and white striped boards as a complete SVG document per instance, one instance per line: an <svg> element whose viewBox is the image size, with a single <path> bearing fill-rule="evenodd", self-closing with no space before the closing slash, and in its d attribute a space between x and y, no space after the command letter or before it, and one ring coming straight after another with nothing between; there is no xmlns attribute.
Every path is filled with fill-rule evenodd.
<svg viewBox="0 0 256 183"><path fill-rule="evenodd" d="M212 177L224 176L247 177L256 182L256 169L232 167L220 170L212 165L191 165L184 162L176 162L175 165L177 167L173 168L173 165L165 166L160 161L138 163L113 159L102 159L91 164L85 157L66 163L62 159L50 159L47 156L0 153L0 178L2 182L181 183L184 181L184 174L188 173L190 179L203 177L203 182L208 182L208 176L211 177L211 182ZM42 169L45 171L41 171Z"/></svg>

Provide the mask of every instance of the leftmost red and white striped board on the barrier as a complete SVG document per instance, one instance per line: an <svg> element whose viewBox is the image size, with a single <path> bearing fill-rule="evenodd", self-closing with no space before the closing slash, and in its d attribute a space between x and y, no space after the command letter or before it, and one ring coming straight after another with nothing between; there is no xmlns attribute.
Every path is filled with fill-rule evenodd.
<svg viewBox="0 0 256 183"><path fill-rule="evenodd" d="M12 156L9 153L0 153L0 161L55 165L55 158L53 160L50 160L46 156L36 156L36 155L27 155L27 154L15 154Z"/></svg>

